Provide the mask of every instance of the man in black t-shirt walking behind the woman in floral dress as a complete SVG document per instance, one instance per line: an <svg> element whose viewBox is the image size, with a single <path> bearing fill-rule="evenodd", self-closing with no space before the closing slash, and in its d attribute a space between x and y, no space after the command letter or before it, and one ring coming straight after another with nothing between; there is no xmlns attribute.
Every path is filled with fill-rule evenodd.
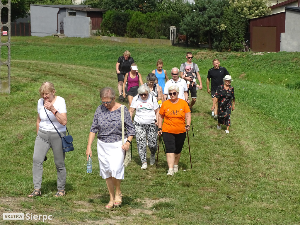
<svg viewBox="0 0 300 225"><path fill-rule="evenodd" d="M212 67L210 70L208 70L207 73L207 79L206 79L206 88L207 93L211 94L211 99L213 100L214 94L217 91L217 87L223 84L223 78L225 75L230 75L225 67L220 66L219 59L215 58L212 60L212 64L214 67ZM209 89L209 81L211 79L211 85ZM211 112L211 116L214 116L214 119L217 119L217 103L214 107L214 111Z"/></svg>

